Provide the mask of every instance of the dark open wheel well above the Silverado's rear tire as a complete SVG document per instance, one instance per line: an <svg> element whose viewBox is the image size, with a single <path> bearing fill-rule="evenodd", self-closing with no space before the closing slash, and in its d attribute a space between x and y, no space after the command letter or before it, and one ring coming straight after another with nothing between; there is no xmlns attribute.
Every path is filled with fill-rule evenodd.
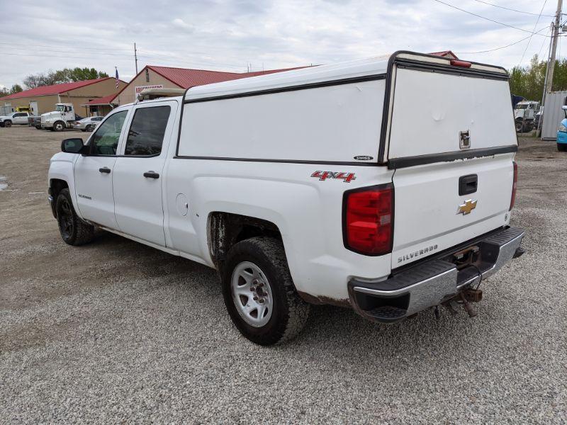
<svg viewBox="0 0 567 425"><path fill-rule="evenodd" d="M257 236L282 240L281 232L272 222L230 212L211 212L209 215L208 246L210 257L219 271L234 244Z"/></svg>

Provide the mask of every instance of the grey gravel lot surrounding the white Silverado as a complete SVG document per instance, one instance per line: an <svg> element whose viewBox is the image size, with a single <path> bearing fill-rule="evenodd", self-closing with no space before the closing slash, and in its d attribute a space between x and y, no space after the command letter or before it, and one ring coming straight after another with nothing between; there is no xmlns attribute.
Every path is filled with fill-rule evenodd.
<svg viewBox="0 0 567 425"><path fill-rule="evenodd" d="M0 128L0 421L567 421L567 153L520 140L527 254L478 317L380 326L314 307L291 344L232 327L215 271L101 233L60 239L47 167L77 133ZM79 133L82 135L82 133Z"/></svg>

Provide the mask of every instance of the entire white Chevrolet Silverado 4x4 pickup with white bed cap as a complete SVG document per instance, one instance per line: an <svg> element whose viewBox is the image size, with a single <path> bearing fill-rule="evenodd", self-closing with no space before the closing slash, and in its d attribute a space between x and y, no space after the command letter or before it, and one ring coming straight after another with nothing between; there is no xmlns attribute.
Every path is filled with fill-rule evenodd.
<svg viewBox="0 0 567 425"><path fill-rule="evenodd" d="M216 268L237 329L269 345L310 304L474 315L523 252L515 152L505 69L396 52L116 108L62 142L49 193L67 244L99 227Z"/></svg>

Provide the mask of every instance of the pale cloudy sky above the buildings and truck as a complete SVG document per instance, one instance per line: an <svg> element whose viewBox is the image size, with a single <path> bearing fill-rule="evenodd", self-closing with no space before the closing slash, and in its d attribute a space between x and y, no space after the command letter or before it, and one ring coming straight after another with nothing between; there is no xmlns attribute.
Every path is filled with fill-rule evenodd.
<svg viewBox="0 0 567 425"><path fill-rule="evenodd" d="M259 71L395 50L452 50L511 68L547 56L556 7L555 0L0 0L0 86L64 67L111 76L118 67L129 81L134 42L139 70L152 64ZM476 53L483 50L493 51Z"/></svg>

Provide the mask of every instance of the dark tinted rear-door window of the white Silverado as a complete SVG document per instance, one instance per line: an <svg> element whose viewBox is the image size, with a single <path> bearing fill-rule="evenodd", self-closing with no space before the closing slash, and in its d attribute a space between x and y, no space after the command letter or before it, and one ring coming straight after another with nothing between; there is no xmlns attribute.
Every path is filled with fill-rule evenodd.
<svg viewBox="0 0 567 425"><path fill-rule="evenodd" d="M171 110L169 106L137 109L128 131L124 154L143 157L159 155Z"/></svg>

